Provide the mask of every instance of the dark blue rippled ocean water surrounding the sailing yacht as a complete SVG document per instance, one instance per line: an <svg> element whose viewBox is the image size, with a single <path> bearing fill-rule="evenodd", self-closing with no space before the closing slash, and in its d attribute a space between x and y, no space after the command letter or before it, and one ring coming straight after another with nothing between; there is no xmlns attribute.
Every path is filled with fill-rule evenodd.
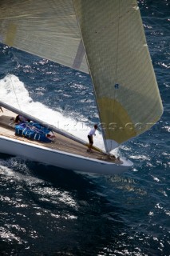
<svg viewBox="0 0 170 256"><path fill-rule="evenodd" d="M0 154L1 255L170 255L170 3L139 6L164 105L160 122L119 148L134 162L121 176ZM1 45L0 79L6 88L18 86L26 104L41 102L34 108L42 114L52 109L65 127L98 122L85 74Z"/></svg>

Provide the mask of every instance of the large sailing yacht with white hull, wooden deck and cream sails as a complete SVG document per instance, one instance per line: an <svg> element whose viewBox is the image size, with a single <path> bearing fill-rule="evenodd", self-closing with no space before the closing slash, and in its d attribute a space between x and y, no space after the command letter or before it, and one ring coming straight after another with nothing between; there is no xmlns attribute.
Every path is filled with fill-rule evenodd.
<svg viewBox="0 0 170 256"><path fill-rule="evenodd" d="M59 130L0 98L0 151L68 170L121 174L132 167L110 151L153 126L163 113L160 92L136 0L6 0L0 38L53 62L89 73L102 123L105 151ZM56 141L18 136L22 114L53 131Z"/></svg>

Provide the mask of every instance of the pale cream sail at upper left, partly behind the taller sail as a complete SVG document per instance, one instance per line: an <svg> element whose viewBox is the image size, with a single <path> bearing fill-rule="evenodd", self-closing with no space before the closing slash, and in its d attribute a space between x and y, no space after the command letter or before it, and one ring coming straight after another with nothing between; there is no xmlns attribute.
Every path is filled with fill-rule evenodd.
<svg viewBox="0 0 170 256"><path fill-rule="evenodd" d="M4 0L0 14L0 42L89 73L72 0Z"/></svg>

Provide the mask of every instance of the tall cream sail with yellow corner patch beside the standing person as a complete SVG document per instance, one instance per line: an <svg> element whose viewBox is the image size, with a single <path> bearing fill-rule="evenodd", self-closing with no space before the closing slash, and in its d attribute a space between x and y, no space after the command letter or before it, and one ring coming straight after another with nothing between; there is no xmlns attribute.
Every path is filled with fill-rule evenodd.
<svg viewBox="0 0 170 256"><path fill-rule="evenodd" d="M163 112L135 0L73 0L106 150L148 130Z"/></svg>

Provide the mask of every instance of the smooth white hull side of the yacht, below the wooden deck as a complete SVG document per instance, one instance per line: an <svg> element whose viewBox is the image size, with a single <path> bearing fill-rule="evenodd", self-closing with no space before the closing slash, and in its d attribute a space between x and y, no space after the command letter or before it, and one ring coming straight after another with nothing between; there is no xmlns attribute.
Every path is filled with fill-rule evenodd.
<svg viewBox="0 0 170 256"><path fill-rule="evenodd" d="M132 166L132 162L121 159L124 163L117 164L97 159L65 153L64 151L52 150L45 146L19 142L14 138L0 136L0 152L17 155L31 161L42 162L52 166L58 166L67 170L78 170L95 174L122 174Z"/></svg>

